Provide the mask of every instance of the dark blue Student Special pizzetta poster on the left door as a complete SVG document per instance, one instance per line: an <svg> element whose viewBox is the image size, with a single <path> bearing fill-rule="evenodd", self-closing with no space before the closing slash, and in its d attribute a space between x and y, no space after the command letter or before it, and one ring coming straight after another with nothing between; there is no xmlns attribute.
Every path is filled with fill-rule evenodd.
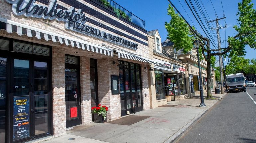
<svg viewBox="0 0 256 143"><path fill-rule="evenodd" d="M29 96L13 98L13 140L30 137Z"/></svg>

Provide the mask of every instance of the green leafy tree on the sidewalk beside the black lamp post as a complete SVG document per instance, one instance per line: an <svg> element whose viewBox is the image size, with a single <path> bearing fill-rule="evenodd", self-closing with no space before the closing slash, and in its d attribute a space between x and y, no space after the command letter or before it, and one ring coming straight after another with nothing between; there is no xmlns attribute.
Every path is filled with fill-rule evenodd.
<svg viewBox="0 0 256 143"><path fill-rule="evenodd" d="M239 56L244 55L245 46L248 45L251 48L256 48L256 11L253 9L253 4L250 4L251 0L243 0L241 3L238 3L238 13L237 19L238 25L233 26L233 28L237 31L235 36L228 37L228 47L220 48L220 49L211 49L210 40L206 37L200 35L196 30L192 27L185 27L185 21L175 14L174 9L169 5L168 7L168 15L170 15L171 21L170 23L165 23L165 27L168 32L168 39L173 39L174 45L177 49L184 51L190 51L192 49L191 34L193 34L194 38L197 38L201 43L201 50L204 59L207 62L207 98L211 98L211 58L217 55L224 55L229 52L229 54L236 54ZM170 28L172 27L172 28ZM184 29L183 29L184 28ZM189 29L189 30L188 30ZM190 33L190 34L188 34ZM184 37L183 37L184 36ZM187 40L186 42L183 40ZM190 43L190 44L189 44ZM185 53L185 52L184 52Z"/></svg>

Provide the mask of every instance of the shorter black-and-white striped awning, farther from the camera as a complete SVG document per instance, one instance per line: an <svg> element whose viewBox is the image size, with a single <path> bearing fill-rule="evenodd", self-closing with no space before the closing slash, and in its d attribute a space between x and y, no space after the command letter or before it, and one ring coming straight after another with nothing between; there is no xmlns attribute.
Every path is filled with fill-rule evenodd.
<svg viewBox="0 0 256 143"><path fill-rule="evenodd" d="M134 55L134 54L131 54L131 53L127 53L127 52L124 52L124 51L120 51L120 50L115 50L114 53L118 54L118 58L136 60L136 61L141 61L141 62L144 62L144 63L150 63L150 64L154 64L154 65L159 65L159 66L163 65L163 63L159 63L159 62L153 61L151 59L140 57L140 56L137 56L137 55Z"/></svg>

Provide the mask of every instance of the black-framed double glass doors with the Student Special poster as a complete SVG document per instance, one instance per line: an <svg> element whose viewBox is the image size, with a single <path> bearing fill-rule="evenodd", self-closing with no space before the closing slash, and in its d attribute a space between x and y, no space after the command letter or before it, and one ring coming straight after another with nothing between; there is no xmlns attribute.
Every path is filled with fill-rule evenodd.
<svg viewBox="0 0 256 143"><path fill-rule="evenodd" d="M48 62L13 60L13 141L50 134Z"/></svg>

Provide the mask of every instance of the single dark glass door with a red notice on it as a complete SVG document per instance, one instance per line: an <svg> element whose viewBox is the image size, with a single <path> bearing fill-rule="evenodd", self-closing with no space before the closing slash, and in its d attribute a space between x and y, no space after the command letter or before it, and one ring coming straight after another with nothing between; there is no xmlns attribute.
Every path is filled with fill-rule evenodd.
<svg viewBox="0 0 256 143"><path fill-rule="evenodd" d="M80 67L78 57L66 56L66 127L81 124Z"/></svg>

